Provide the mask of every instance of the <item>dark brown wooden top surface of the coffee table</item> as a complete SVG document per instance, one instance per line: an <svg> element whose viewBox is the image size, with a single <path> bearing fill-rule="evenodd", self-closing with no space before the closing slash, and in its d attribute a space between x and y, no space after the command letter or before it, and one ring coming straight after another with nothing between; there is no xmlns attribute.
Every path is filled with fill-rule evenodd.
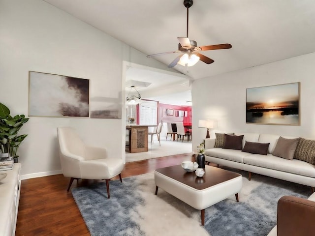
<svg viewBox="0 0 315 236"><path fill-rule="evenodd" d="M197 177L195 172L187 172L181 165L157 169L156 172L173 178L197 190L209 188L216 184L241 176L238 173L206 165L203 177Z"/></svg>

